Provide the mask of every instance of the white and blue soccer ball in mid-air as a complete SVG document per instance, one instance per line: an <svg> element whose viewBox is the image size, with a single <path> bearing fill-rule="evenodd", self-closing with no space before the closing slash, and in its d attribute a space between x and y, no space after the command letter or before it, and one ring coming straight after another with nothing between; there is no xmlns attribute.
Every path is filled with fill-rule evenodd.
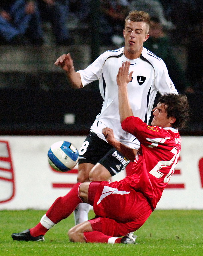
<svg viewBox="0 0 203 256"><path fill-rule="evenodd" d="M78 162L78 151L68 141L58 141L51 145L48 151L48 162L50 166L59 172L72 170Z"/></svg>

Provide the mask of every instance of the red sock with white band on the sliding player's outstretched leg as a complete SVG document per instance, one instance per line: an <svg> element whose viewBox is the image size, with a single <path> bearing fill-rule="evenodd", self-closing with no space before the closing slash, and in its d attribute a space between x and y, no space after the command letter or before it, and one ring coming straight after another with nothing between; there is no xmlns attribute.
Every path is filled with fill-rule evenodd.
<svg viewBox="0 0 203 256"><path fill-rule="evenodd" d="M39 223L30 229L31 236L44 235L54 224L67 218L74 211L77 205L82 202L78 195L80 184L75 184L67 195L55 200L40 221L43 225Z"/></svg>

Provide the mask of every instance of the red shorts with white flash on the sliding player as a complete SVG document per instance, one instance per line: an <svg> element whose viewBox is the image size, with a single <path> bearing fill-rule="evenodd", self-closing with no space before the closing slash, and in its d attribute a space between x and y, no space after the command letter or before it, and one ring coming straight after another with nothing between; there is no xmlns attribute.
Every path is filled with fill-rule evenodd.
<svg viewBox="0 0 203 256"><path fill-rule="evenodd" d="M88 200L94 200L97 216L89 220L93 230L109 236L119 237L137 230L152 213L142 193L117 181L90 183Z"/></svg>

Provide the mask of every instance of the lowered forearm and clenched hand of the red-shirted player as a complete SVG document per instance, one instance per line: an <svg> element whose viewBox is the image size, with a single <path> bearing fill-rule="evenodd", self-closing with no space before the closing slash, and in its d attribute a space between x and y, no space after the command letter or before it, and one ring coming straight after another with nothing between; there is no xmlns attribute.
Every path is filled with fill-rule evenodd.
<svg viewBox="0 0 203 256"><path fill-rule="evenodd" d="M134 162L135 156L137 154L136 149L129 148L128 146L122 144L120 141L116 140L111 128L106 127L102 129L102 133L111 146L121 152L130 161Z"/></svg>

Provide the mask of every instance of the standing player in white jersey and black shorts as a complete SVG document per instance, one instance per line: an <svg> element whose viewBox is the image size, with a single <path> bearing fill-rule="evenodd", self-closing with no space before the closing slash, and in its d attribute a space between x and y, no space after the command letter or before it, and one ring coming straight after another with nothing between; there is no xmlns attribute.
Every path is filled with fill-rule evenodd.
<svg viewBox="0 0 203 256"><path fill-rule="evenodd" d="M152 52L143 48L148 39L150 17L143 11L132 11L125 20L123 36L125 46L101 54L90 66L75 72L70 54L60 56L55 65L66 72L73 88L83 88L99 80L100 93L104 99L100 114L90 128L90 134L79 150L78 182L107 181L122 171L129 160L109 145L102 129L114 130L117 140L128 147L138 149L137 138L123 131L118 112L118 87L116 75L125 61L130 61L132 80L128 86L129 101L134 115L148 123L157 92L177 93L165 63ZM86 208L87 207L87 208ZM75 223L87 220L89 206L80 204L75 211Z"/></svg>

